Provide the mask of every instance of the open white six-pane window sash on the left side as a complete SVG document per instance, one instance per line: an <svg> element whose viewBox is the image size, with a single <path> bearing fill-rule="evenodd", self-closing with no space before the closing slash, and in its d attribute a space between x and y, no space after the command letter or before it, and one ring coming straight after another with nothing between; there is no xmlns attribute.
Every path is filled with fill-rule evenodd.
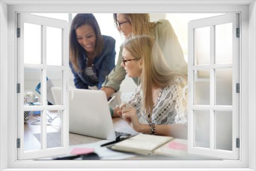
<svg viewBox="0 0 256 171"><path fill-rule="evenodd" d="M24 24L35 24L41 27L41 63L31 65L24 63ZM33 151L24 151L24 116L17 116L17 138L20 139L20 147L17 148L18 160L46 158L56 155L66 155L69 153L69 23L64 20L43 17L33 14L18 13L17 27L20 28L20 37L17 38L17 83L20 83L20 93L17 94L17 113L23 111L41 111L41 148ZM61 66L47 65L47 27L54 27L61 30ZM24 106L24 69L40 70L41 75L41 105ZM47 105L47 70L61 71L62 75L62 105ZM61 110L61 146L47 148L47 110ZM45 123L45 124L42 124Z"/></svg>

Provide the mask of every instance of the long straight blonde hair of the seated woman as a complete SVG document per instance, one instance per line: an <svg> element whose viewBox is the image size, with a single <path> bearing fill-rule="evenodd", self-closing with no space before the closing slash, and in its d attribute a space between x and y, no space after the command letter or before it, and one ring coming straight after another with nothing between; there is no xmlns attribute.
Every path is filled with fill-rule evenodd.
<svg viewBox="0 0 256 171"><path fill-rule="evenodd" d="M124 48L138 60L142 59L141 91L142 111L153 109L152 88L168 86L174 77L181 76L168 67L161 49L150 36L136 36L124 42ZM152 112L151 112L152 113Z"/></svg>

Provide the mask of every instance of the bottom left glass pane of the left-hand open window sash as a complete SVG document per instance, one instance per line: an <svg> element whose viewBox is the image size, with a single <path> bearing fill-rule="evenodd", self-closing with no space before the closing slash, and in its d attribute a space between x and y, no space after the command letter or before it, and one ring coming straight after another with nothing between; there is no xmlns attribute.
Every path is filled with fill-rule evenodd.
<svg viewBox="0 0 256 171"><path fill-rule="evenodd" d="M41 111L24 111L24 151L41 149Z"/></svg>

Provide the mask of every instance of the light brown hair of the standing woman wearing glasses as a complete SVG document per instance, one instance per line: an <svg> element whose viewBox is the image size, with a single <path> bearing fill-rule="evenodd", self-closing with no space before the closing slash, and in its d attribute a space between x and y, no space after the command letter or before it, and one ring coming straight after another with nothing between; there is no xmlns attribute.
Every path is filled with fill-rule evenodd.
<svg viewBox="0 0 256 171"><path fill-rule="evenodd" d="M140 35L150 35L151 30L155 27L155 24L150 22L150 14L127 14L122 13L123 17L131 22L132 33L131 37L140 36ZM114 23L117 27L117 14L113 14Z"/></svg>

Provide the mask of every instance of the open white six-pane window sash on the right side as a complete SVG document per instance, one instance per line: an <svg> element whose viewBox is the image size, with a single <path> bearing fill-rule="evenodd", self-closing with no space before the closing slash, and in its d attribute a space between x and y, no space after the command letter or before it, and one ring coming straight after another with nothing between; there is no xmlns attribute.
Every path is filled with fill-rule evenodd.
<svg viewBox="0 0 256 171"><path fill-rule="evenodd" d="M215 26L222 24L232 24L232 62L216 63L215 62ZM210 55L209 64L197 65L195 62L195 30L198 28L209 28L209 45ZM188 23L188 153L198 156L211 156L219 159L239 159L239 148L236 147L236 138L239 138L239 95L236 93L236 83L239 82L239 39L236 35L236 28L239 28L239 14L230 13L208 18L192 20ZM232 69L232 105L217 105L216 100L216 69ZM209 105L195 104L195 71L209 70ZM209 148L202 148L195 145L195 111L209 112ZM220 150L216 148L216 111L232 112L232 144L231 151ZM206 121L207 123L207 121Z"/></svg>

